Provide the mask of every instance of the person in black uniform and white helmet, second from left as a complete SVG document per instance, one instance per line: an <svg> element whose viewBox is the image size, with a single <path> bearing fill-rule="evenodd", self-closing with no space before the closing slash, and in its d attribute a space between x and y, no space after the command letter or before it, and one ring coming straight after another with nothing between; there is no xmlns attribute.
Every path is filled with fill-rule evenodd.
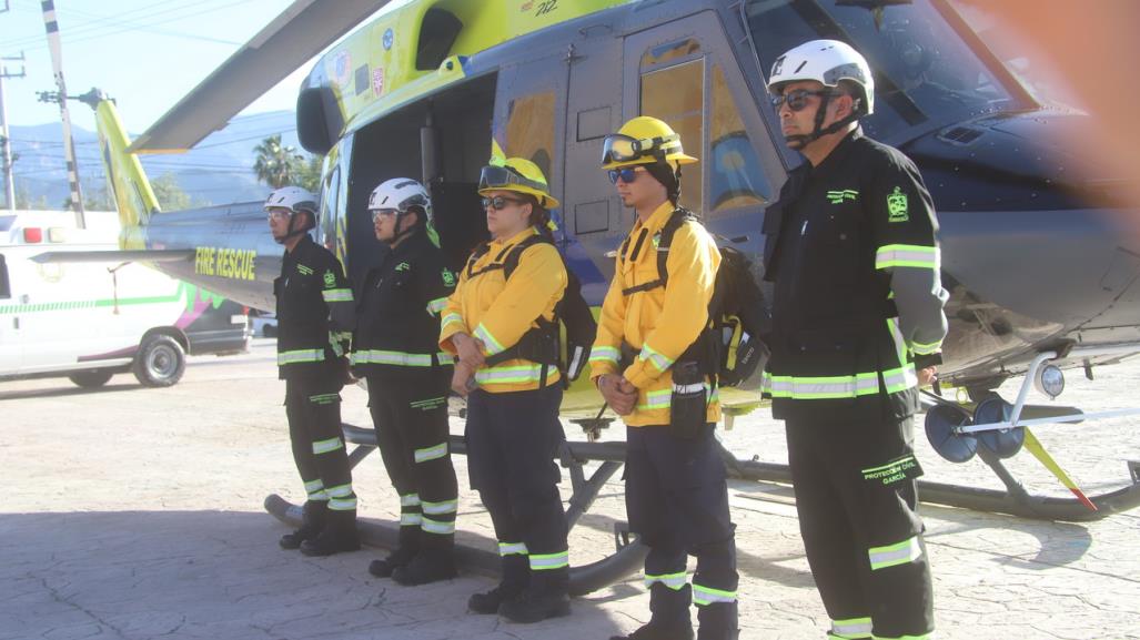
<svg viewBox="0 0 1140 640"><path fill-rule="evenodd" d="M400 584L426 584L456 575L458 502L447 422L453 358L437 345L455 276L445 265L422 184L384 181L368 211L376 239L391 251L357 295L352 364L368 380L376 442L400 495L399 544L368 571Z"/></svg>

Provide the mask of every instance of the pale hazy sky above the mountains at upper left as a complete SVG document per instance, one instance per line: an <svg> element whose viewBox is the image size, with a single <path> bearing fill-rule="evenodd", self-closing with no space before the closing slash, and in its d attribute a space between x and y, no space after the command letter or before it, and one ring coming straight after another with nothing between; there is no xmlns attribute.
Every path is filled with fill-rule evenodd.
<svg viewBox="0 0 1140 640"><path fill-rule="evenodd" d="M334 0L323 0L334 1ZM3 11L7 3L9 10ZM141 133L217 66L292 3L292 0L55 0L63 40L64 77L72 95L92 87L115 98L128 131ZM393 2L401 5L404 2ZM0 0L0 56L9 125L58 122L55 104L38 91L55 91L40 0ZM246 114L293 109L307 63ZM70 105L76 126L95 129L91 109Z"/></svg>

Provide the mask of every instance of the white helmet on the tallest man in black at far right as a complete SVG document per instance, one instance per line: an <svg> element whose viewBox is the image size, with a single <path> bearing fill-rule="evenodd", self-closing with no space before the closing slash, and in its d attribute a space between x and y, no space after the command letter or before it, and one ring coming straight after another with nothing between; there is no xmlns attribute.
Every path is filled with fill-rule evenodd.
<svg viewBox="0 0 1140 640"><path fill-rule="evenodd" d="M826 87L838 87L849 80L863 88L863 100L856 112L874 113L874 80L866 59L846 42L812 40L776 58L768 76L768 92L777 93L789 82L815 80Z"/></svg>

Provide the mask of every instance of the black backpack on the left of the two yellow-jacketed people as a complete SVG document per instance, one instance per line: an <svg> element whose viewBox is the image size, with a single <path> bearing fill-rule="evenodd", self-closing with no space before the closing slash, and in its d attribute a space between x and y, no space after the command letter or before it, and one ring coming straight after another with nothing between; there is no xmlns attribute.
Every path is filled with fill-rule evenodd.
<svg viewBox="0 0 1140 640"><path fill-rule="evenodd" d="M511 279L511 274L519 266L522 252L527 248L545 243L554 245L553 239L545 233L536 233L510 247L510 253L504 257L502 254L495 257L495 262L487 266L474 270L475 262L490 251L490 244L480 245L467 260L467 278L494 271L503 270L503 277ZM559 252L561 257L562 253ZM562 260L565 266L565 259ZM589 350L597 335L597 322L589 310L586 298L581 297L581 281L569 266L567 270L567 288L562 294L562 300L554 305L553 320L546 320L539 315L535 322L538 327L523 334L522 338L510 348L496 353L486 359L487 364L495 366L507 360L522 359L538 364L552 364L562 371L564 385L569 386L572 380L578 379L586 362L589 359ZM562 352L561 326L565 327L565 354ZM539 386L546 386L546 369L543 369L543 378Z"/></svg>

